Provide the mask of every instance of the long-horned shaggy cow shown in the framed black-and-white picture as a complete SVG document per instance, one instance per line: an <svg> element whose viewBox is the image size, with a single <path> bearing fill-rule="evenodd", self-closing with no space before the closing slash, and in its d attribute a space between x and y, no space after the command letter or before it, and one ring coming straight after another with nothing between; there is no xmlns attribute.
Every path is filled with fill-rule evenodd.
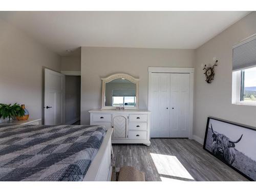
<svg viewBox="0 0 256 192"><path fill-rule="evenodd" d="M235 144L242 139L243 134L237 141L232 141L227 136L215 132L212 129L212 125L211 132L212 138L214 138L214 142L212 142L211 152L220 160L231 165L236 159L236 151L234 150Z"/></svg>

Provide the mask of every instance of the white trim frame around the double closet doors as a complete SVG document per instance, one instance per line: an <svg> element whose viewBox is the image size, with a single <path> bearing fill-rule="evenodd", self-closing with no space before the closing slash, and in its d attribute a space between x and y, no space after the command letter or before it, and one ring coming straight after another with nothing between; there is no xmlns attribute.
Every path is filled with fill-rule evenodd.
<svg viewBox="0 0 256 192"><path fill-rule="evenodd" d="M147 107L151 111L151 83L152 73L188 73L189 74L189 113L188 138L193 139L193 113L194 113L194 68L148 67L148 100Z"/></svg>

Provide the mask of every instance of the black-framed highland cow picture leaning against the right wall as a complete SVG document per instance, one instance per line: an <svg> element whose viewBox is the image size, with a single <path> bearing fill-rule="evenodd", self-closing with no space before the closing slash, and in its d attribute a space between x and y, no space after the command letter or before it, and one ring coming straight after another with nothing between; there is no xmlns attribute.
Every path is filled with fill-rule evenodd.
<svg viewBox="0 0 256 192"><path fill-rule="evenodd" d="M256 181L256 128L208 117L203 148L251 181Z"/></svg>

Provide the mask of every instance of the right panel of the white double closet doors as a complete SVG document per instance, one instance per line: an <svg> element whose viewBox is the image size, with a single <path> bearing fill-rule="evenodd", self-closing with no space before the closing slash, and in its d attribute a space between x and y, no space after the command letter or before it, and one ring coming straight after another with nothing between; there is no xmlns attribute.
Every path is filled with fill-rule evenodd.
<svg viewBox="0 0 256 192"><path fill-rule="evenodd" d="M188 137L189 74L170 74L170 137Z"/></svg>

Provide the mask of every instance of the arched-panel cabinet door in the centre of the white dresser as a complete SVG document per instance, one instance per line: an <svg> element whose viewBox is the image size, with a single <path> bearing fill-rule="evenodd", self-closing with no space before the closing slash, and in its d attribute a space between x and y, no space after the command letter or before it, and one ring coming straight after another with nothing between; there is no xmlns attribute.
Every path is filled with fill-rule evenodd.
<svg viewBox="0 0 256 192"><path fill-rule="evenodd" d="M127 115L113 115L113 139L127 138Z"/></svg>

